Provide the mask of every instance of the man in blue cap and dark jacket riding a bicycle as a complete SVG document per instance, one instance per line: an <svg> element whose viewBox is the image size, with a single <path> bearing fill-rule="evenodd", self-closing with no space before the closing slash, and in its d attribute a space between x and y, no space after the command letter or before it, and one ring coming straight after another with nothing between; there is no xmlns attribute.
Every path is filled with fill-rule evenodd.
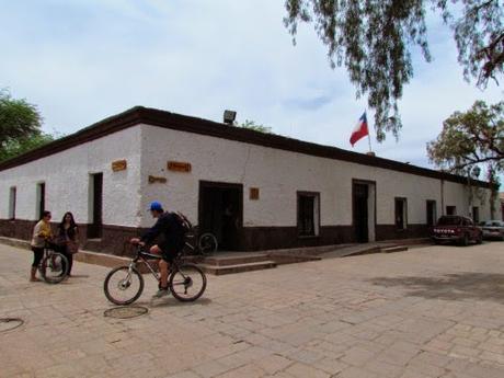
<svg viewBox="0 0 504 378"><path fill-rule="evenodd" d="M163 240L158 244L152 245L149 251L152 254L160 254L159 271L161 273L160 285L158 293L153 298L161 298L168 295L168 272L170 263L184 248L184 228L173 213L164 211L161 203L154 201L149 207L150 214L157 218L156 225L152 226L141 238L133 238L131 244L149 244L158 236L162 236Z"/></svg>

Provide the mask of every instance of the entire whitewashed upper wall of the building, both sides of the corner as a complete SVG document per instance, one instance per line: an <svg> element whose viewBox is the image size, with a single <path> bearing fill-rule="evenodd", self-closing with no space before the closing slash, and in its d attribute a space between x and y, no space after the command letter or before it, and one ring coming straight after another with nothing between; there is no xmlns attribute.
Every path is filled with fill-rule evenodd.
<svg viewBox="0 0 504 378"><path fill-rule="evenodd" d="M229 126L222 126L229 127ZM140 152L141 151L141 152ZM112 161L126 159L127 170L113 172ZM172 172L167 161L192 164L191 173ZM59 220L67 210L79 222L91 222L90 174L103 172L103 222L148 227L149 203L161 201L168 209L197 221L199 180L243 183L244 226L296 226L297 191L320 192L321 226L352 224L352 179L376 182L377 224L394 222L394 197L408 198L408 222L426 222L426 201L457 206L468 215L462 184L351 162L322 159L220 138L138 125L50 157L0 171L0 219L8 218L9 191L16 187L16 218L36 218L36 185L46 184L46 208ZM148 183L148 176L168 183ZM250 187L260 199L250 201ZM486 191L488 192L488 191ZM480 219L490 218L489 194Z"/></svg>

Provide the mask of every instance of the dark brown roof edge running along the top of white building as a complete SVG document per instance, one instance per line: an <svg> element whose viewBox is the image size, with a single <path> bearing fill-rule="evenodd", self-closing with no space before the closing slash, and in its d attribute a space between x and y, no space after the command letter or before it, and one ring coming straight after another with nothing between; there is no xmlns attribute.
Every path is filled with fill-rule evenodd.
<svg viewBox="0 0 504 378"><path fill-rule="evenodd" d="M280 149L285 151L299 152L334 160L343 160L357 164L383 168L456 183L466 184L468 182L467 177L463 176L401 163L394 160L371 157L364 153L347 151L336 147L317 145L308 141L283 137L279 135L264 134L241 127L232 127L208 119L144 106L131 107L126 112L107 117L67 137L57 139L48 145L28 151L13 159L7 160L0 163L0 171L25 164L30 161L64 151L71 147L99 139L106 135L138 124L148 124L152 126L207 135L222 139ZM473 181L472 183L473 185L478 185L480 187L491 187L490 183L483 181Z"/></svg>

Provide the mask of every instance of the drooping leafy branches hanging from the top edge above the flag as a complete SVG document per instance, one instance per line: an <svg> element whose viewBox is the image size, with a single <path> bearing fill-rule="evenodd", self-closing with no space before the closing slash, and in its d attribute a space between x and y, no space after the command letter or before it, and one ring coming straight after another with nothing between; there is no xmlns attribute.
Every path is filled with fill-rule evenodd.
<svg viewBox="0 0 504 378"><path fill-rule="evenodd" d="M286 0L284 23L294 43L299 22L314 24L331 67L344 65L357 98L367 94L382 141L387 133L398 138L402 126L398 100L413 77L410 48L417 45L431 61L428 7L453 28L465 79L477 78L481 88L496 80L504 65L502 0Z"/></svg>

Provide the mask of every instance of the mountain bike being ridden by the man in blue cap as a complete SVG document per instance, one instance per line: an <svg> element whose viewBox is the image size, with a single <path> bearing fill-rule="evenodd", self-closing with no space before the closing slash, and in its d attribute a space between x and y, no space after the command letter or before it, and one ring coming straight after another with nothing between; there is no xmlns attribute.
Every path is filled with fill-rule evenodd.
<svg viewBox="0 0 504 378"><path fill-rule="evenodd" d="M137 263L144 263L152 276L160 282L160 274L149 263L149 260L159 260L161 255L148 253L138 245L136 255L129 265L113 268L105 278L103 290L106 298L115 305L129 305L137 300L144 291L144 277L138 271ZM206 289L205 273L194 264L186 263L179 254L170 264L168 287L180 301L194 301Z"/></svg>

